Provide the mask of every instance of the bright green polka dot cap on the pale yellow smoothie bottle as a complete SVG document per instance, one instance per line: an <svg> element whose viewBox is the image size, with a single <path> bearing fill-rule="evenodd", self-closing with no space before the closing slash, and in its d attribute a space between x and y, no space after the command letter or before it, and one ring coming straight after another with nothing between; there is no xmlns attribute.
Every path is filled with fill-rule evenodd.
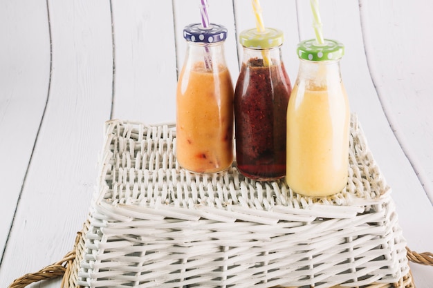
<svg viewBox="0 0 433 288"><path fill-rule="evenodd" d="M324 44L317 44L315 39L301 41L297 44L297 55L300 59L310 61L337 60L344 55L344 45L339 41L324 39Z"/></svg>

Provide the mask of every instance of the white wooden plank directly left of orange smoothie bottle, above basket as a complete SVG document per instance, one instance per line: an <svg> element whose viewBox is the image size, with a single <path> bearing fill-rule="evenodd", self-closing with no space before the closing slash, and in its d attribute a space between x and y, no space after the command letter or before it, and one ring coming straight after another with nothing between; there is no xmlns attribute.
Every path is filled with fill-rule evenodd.
<svg viewBox="0 0 433 288"><path fill-rule="evenodd" d="M176 120L176 44L172 1L113 1L113 118Z"/></svg>

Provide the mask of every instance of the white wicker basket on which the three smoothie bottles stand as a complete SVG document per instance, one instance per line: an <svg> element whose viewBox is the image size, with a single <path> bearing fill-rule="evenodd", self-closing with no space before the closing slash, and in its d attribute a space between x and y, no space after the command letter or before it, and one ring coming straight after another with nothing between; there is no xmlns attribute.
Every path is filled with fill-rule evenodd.
<svg viewBox="0 0 433 288"><path fill-rule="evenodd" d="M349 181L328 198L283 180L176 163L174 126L112 120L77 284L84 287L383 287L406 242L356 116ZM382 284L380 284L382 283Z"/></svg>

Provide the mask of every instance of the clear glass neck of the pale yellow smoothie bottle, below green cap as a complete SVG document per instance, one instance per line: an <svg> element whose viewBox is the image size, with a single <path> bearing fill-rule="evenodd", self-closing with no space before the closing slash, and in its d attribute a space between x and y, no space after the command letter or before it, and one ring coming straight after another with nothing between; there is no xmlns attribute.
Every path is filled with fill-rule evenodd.
<svg viewBox="0 0 433 288"><path fill-rule="evenodd" d="M326 89L331 84L341 83L340 59L308 61L300 59L297 81L305 81L312 89Z"/></svg>

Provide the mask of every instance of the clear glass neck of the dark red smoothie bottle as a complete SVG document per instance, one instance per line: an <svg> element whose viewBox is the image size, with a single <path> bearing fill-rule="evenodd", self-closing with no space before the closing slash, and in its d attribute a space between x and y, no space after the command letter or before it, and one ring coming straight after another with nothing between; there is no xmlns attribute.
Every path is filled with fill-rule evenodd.
<svg viewBox="0 0 433 288"><path fill-rule="evenodd" d="M243 47L242 59L243 65L246 66L281 65L281 46L265 49Z"/></svg>

